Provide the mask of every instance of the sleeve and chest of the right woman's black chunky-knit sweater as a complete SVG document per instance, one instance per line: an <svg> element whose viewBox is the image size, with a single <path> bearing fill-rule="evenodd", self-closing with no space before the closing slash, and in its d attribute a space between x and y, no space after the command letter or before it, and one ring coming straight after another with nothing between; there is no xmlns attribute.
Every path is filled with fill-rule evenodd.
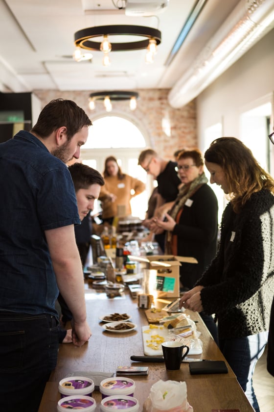
<svg viewBox="0 0 274 412"><path fill-rule="evenodd" d="M273 199L264 196L264 191L252 195L233 224L228 222L229 211L230 205L223 217L219 252L197 283L205 286L201 300L206 313L229 310L248 301L274 271L270 230Z"/></svg>

